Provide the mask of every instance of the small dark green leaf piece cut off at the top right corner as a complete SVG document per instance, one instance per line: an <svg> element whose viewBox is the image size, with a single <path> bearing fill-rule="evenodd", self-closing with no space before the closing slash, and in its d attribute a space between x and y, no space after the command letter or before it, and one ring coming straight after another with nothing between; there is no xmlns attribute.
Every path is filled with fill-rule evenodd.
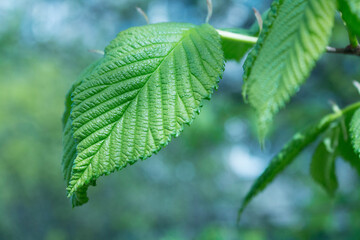
<svg viewBox="0 0 360 240"><path fill-rule="evenodd" d="M360 36L360 0L339 0L339 10L349 30Z"/></svg>

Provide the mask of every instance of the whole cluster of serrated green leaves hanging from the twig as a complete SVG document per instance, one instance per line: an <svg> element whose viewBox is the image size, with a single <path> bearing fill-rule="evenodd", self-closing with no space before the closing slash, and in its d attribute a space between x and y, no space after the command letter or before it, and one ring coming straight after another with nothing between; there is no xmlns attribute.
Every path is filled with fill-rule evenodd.
<svg viewBox="0 0 360 240"><path fill-rule="evenodd" d="M100 176L147 159L190 125L217 89L225 60L246 58L243 95L255 109L263 141L274 115L326 51L337 10L350 48L359 48L358 0L274 0L262 28L159 23L121 32L66 96L62 165L73 206L88 201L87 188ZM313 142L318 146L310 174L330 195L338 187L338 157L360 173L359 107L334 107L334 113L295 134L255 181L239 216Z"/></svg>

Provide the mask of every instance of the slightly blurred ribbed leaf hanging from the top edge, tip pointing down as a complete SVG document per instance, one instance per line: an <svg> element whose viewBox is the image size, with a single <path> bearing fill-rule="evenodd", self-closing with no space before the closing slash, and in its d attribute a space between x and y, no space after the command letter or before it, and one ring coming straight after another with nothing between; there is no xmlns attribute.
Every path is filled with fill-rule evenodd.
<svg viewBox="0 0 360 240"><path fill-rule="evenodd" d="M256 109L261 139L325 51L335 9L336 0L273 2L244 67L243 94Z"/></svg>

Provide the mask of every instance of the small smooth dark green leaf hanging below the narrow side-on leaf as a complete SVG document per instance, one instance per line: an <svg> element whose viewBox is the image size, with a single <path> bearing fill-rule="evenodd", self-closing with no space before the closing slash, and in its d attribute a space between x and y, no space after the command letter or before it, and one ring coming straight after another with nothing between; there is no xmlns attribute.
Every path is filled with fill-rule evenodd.
<svg viewBox="0 0 360 240"><path fill-rule="evenodd" d="M330 129L330 137L325 138L315 149L310 164L310 174L330 196L338 188L335 173L335 160L339 144L339 126Z"/></svg>

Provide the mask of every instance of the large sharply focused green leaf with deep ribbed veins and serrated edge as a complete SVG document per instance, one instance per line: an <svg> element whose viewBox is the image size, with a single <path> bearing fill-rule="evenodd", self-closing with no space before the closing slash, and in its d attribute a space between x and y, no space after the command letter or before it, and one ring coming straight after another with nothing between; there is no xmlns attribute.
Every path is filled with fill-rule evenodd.
<svg viewBox="0 0 360 240"><path fill-rule="evenodd" d="M146 159L199 113L222 74L221 40L208 24L161 23L121 32L72 94L77 156L68 196ZM86 198L84 198L84 196Z"/></svg>

